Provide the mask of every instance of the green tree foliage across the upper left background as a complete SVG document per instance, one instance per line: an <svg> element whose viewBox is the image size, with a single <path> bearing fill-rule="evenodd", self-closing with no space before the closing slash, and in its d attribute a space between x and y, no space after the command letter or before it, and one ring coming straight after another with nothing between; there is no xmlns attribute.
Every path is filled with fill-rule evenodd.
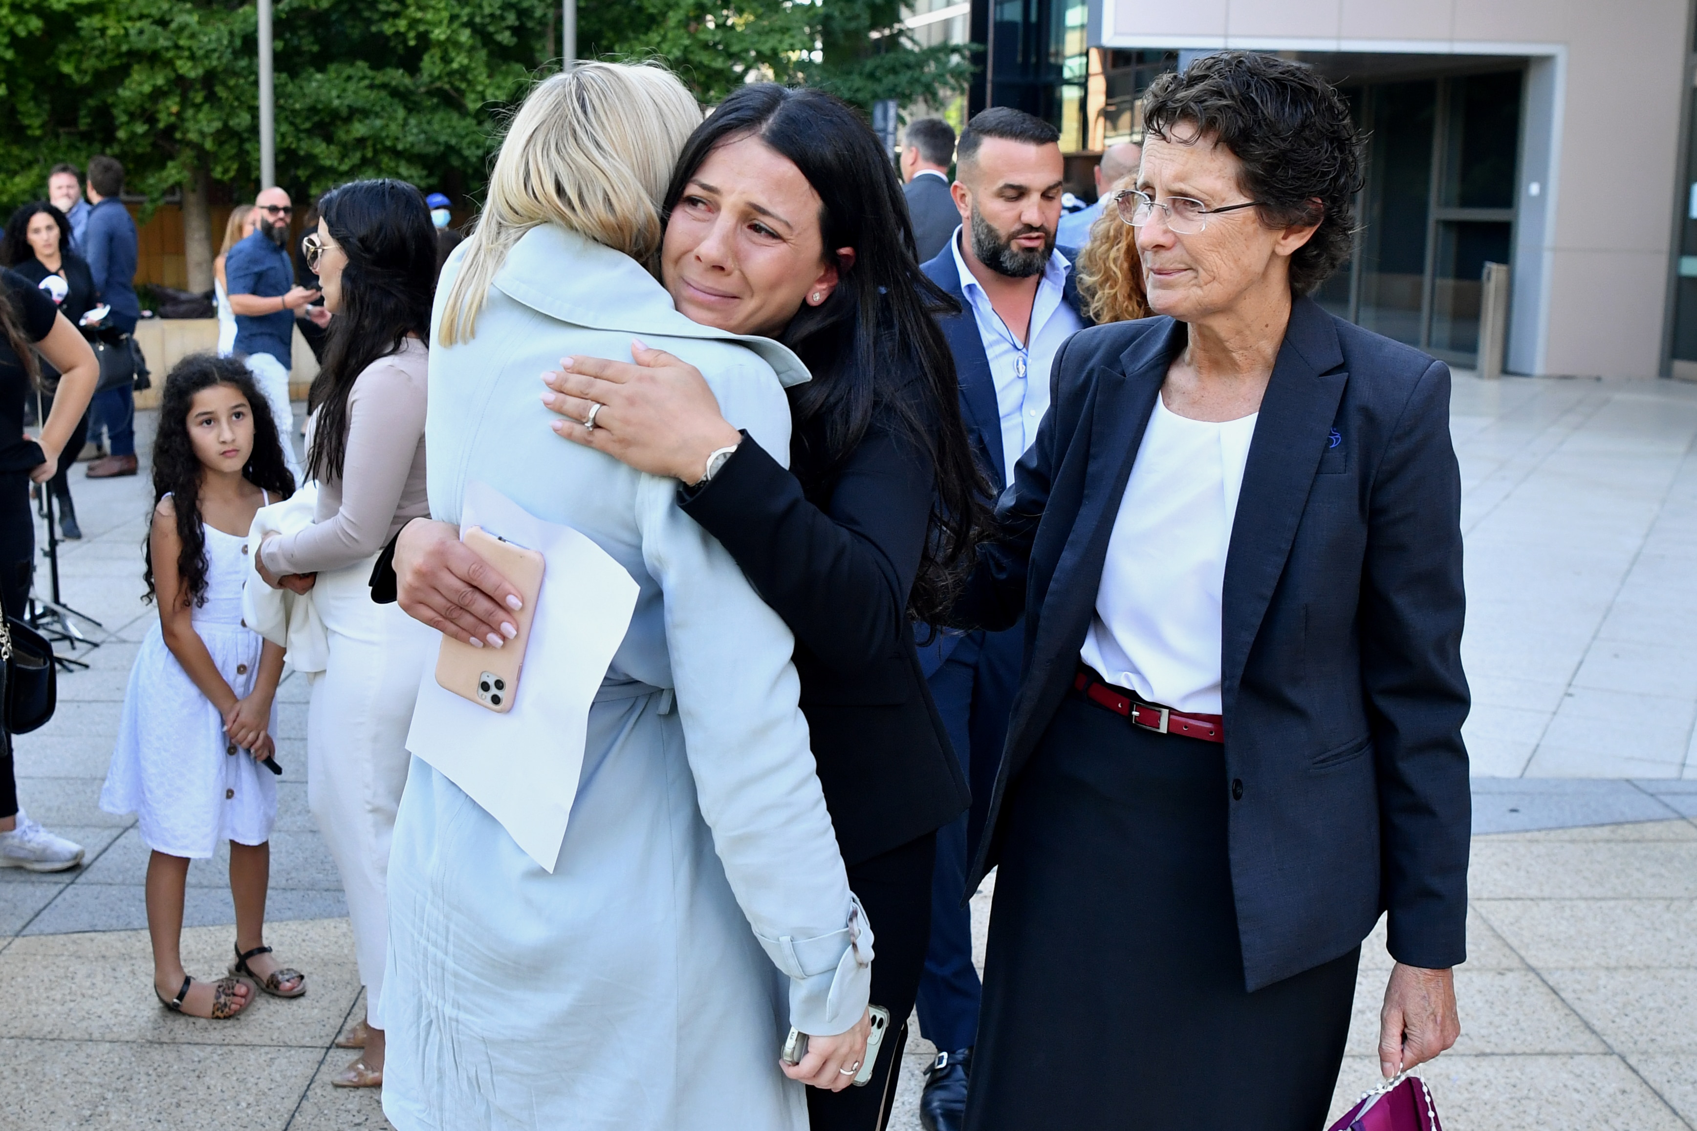
<svg viewBox="0 0 1697 1131"><path fill-rule="evenodd" d="M657 58L704 103L750 78L871 107L964 86L955 47L915 49L899 0L580 3L580 58ZM553 0L278 0L277 168L309 198L355 176L475 195L501 115L557 66ZM253 0L0 0L0 205L54 161L110 153L132 190L258 175Z"/></svg>

